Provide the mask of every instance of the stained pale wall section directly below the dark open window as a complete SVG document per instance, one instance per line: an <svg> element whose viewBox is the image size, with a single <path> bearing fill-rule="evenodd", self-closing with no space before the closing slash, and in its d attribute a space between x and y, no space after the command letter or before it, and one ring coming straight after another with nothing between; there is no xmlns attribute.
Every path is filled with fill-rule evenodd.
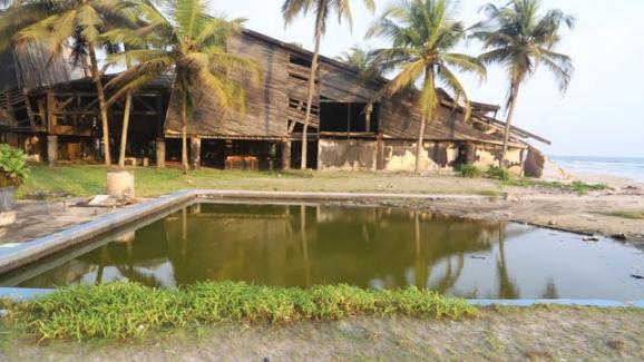
<svg viewBox="0 0 644 362"><path fill-rule="evenodd" d="M320 139L320 170L375 170L378 143L361 139Z"/></svg>

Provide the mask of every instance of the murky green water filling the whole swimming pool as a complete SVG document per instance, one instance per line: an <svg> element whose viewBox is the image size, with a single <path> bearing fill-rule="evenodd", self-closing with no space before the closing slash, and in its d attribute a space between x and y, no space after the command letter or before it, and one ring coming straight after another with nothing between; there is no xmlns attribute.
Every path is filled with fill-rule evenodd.
<svg viewBox="0 0 644 362"><path fill-rule="evenodd" d="M644 281L632 276L644 273L637 248L383 207L193 205L67 258L9 280L26 287L119 280L348 283L472 299L644 300Z"/></svg>

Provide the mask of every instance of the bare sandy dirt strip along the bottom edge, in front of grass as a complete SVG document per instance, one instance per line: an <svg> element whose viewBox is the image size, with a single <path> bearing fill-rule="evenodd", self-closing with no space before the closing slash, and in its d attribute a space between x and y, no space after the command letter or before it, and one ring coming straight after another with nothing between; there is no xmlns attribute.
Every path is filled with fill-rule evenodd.
<svg viewBox="0 0 644 362"><path fill-rule="evenodd" d="M8 339L0 349L7 361L642 361L644 312L537 307L457 322L227 324L128 343Z"/></svg>

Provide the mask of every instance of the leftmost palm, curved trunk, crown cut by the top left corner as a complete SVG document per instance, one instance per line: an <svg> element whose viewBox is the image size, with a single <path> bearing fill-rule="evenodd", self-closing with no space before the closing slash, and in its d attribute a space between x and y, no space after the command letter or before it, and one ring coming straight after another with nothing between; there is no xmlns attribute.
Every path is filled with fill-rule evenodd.
<svg viewBox="0 0 644 362"><path fill-rule="evenodd" d="M0 17L0 36L10 36L9 39L18 47L47 42L52 57L61 56L70 42L74 50L87 50L89 74L98 96L107 167L111 165L107 100L96 52L106 45L101 33L115 22L127 21L120 9L121 6L115 0L23 0L12 1L9 10ZM78 55L76 57L79 58Z"/></svg>

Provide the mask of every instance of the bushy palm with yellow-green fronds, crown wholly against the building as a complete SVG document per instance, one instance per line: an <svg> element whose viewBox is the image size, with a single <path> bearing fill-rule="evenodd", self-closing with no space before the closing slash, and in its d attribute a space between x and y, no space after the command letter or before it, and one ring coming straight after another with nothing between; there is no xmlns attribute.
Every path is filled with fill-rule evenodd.
<svg viewBox="0 0 644 362"><path fill-rule="evenodd" d="M227 21L208 16L206 0L170 0L165 4L169 9L167 17L150 2L139 1L137 7L148 22L146 26L105 35L111 42L133 48L110 57L110 62L133 61L110 86L118 86L113 96L117 99L158 77L174 74L173 97L180 101L182 165L187 173L187 121L193 98L206 88L222 109L243 110L244 90L231 74L247 72L257 85L260 72L253 60L226 50L231 37L242 31L243 19Z"/></svg>

